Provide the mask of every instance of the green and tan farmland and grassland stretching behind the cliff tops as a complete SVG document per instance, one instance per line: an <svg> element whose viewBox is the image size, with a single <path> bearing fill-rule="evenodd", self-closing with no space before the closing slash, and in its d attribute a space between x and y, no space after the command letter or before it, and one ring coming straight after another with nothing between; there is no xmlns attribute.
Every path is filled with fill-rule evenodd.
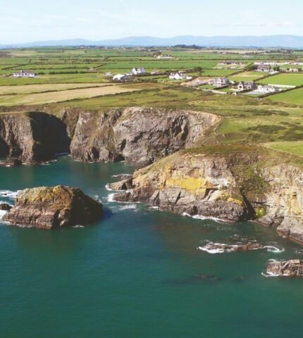
<svg viewBox="0 0 303 338"><path fill-rule="evenodd" d="M173 56L160 60L157 55ZM303 74L278 74L261 77L246 69L216 69L223 61L252 65L256 61L299 61L302 54L292 51L245 51L216 49L77 49L35 48L1 51L0 113L32 109L59 113L66 108L100 110L129 106L156 106L171 109L192 109L221 115L216 134L204 143L262 144L273 151L303 156L303 89L294 89L266 98L254 95L230 95L231 87L221 89L225 95L204 92L209 86L191 88L168 80L171 71L185 70L196 77L228 77L231 81L254 80L261 84L303 84ZM132 77L130 83L113 83L106 72L125 74L135 67L144 67L147 75ZM202 68L202 72L199 68ZM13 78L11 73L34 70L35 78ZM194 71L192 71L194 69ZM162 75L149 75L159 70ZM297 105L294 106L294 105ZM2 107L2 108L1 108ZM297 143L296 143L297 142Z"/></svg>

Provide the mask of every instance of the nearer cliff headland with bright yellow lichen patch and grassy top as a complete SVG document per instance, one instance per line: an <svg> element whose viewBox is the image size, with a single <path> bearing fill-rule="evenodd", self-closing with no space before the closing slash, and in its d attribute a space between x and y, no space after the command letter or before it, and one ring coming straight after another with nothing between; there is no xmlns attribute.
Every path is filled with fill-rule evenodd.
<svg viewBox="0 0 303 338"><path fill-rule="evenodd" d="M303 244L303 170L254 146L179 151L137 170L120 187L131 189L116 194L117 201L228 222L256 220Z"/></svg>

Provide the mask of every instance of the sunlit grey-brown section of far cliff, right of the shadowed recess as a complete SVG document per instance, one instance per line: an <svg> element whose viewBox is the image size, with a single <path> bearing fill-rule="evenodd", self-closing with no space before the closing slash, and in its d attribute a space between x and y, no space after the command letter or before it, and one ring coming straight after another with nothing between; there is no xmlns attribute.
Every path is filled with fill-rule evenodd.
<svg viewBox="0 0 303 338"><path fill-rule="evenodd" d="M125 160L147 165L192 146L219 120L209 113L159 108L82 112L70 153L86 162Z"/></svg>

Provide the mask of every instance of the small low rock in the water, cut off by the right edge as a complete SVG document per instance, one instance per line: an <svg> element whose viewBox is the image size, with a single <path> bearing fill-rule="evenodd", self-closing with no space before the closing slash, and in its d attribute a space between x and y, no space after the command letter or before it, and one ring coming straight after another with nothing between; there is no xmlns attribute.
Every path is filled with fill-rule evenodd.
<svg viewBox="0 0 303 338"><path fill-rule="evenodd" d="M267 274L273 276L303 276L303 261L294 259L291 261L270 261Z"/></svg>

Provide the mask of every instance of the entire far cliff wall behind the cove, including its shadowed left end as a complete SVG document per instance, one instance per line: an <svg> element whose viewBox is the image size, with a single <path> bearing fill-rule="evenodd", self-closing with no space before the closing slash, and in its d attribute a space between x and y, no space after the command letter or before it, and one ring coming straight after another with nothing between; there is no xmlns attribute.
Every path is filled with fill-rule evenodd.
<svg viewBox="0 0 303 338"><path fill-rule="evenodd" d="M0 157L32 164L70 152L84 162L148 165L193 146L219 121L210 113L147 107L0 114Z"/></svg>

